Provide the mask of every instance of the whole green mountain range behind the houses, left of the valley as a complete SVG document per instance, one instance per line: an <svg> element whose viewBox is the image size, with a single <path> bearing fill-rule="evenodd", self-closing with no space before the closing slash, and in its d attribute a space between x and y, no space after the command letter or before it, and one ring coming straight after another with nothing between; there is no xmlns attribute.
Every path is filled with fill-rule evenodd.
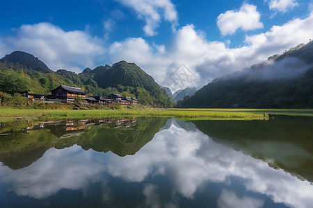
<svg viewBox="0 0 313 208"><path fill-rule="evenodd" d="M0 92L14 94L30 90L49 94L58 85L81 87L89 96L118 93L136 96L139 103L157 107L172 107L166 92L134 63L120 61L113 66L100 66L74 73L65 69L52 71L29 53L15 51L0 59Z"/></svg>

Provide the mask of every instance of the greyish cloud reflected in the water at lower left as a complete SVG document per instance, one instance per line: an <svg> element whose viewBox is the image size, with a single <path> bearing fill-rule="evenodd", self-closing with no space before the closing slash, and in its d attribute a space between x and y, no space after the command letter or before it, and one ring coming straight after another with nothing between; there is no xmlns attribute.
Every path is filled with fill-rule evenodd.
<svg viewBox="0 0 313 208"><path fill-rule="evenodd" d="M85 152L80 146L63 150L51 148L26 168L11 171L1 167L1 181L12 182L12 189L18 196L37 199L47 198L61 189L83 189L93 180L102 180L99 173L104 171L104 166L93 162L92 156L92 150Z"/></svg>

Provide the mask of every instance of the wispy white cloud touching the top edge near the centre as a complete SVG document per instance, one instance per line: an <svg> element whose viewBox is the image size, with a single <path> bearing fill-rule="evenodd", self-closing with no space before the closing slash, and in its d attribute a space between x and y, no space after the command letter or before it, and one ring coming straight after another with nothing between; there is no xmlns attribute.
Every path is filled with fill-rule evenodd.
<svg viewBox="0 0 313 208"><path fill-rule="evenodd" d="M172 30L177 26L177 11L170 0L116 0L129 8L135 10L138 18L145 20L143 31L147 36L157 35L155 29L159 26L161 19L172 24Z"/></svg>

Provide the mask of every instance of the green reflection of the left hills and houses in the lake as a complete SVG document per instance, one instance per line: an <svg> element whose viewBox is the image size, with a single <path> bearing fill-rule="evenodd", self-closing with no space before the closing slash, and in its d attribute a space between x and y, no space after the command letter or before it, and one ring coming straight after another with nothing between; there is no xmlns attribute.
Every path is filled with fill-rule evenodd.
<svg viewBox="0 0 313 208"><path fill-rule="evenodd" d="M138 122L138 120L140 122ZM78 144L84 150L134 155L165 125L167 119L84 119L40 122L3 132L0 161L12 169L29 166L49 148ZM93 128L92 128L93 127Z"/></svg>

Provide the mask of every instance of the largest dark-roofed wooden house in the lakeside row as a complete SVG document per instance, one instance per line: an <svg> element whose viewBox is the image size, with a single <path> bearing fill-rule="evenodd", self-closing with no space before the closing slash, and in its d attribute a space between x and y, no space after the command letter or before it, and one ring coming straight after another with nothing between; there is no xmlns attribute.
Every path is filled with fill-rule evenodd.
<svg viewBox="0 0 313 208"><path fill-rule="evenodd" d="M86 103L86 92L79 87L69 87L60 85L51 90L51 98L61 101L61 103L74 104L76 98L81 98L81 103Z"/></svg>

